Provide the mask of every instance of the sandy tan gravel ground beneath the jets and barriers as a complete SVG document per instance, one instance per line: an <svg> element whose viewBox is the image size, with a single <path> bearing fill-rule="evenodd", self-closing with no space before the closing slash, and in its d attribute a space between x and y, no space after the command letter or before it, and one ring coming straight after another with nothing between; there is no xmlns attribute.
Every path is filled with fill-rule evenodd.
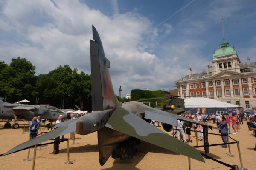
<svg viewBox="0 0 256 170"><path fill-rule="evenodd" d="M6 153L18 144L26 142L29 139L28 126L23 128L20 125L19 129L4 129L4 122L0 122L0 154ZM23 122L20 122L23 124ZM41 129L47 131L47 129ZM41 131L39 131L40 133ZM209 131L210 132L210 131ZM218 130L213 130L213 133L219 134ZM169 133L170 134L170 133ZM199 135L198 135L199 136ZM67 134L64 137L69 138ZM256 170L256 151L253 150L255 138L252 136L252 131L249 131L246 124L241 125L241 130L237 135L231 135L236 140L239 140L241 155L244 168ZM195 133L192 132L193 143L196 145ZM49 141L48 141L49 142ZM221 136L209 135L209 143L221 143ZM232 140L230 141L232 142ZM76 134L75 145L71 145L70 141L70 160L73 164L64 164L67 161L67 142L60 144L60 153L54 155L53 144L42 147L44 150L37 151L35 160L36 170L183 170L188 169L188 158L186 156L173 153L161 147L154 146L147 142L142 142L137 146L138 152L129 160L115 160L109 158L104 166L99 164L99 153L97 143L97 132L89 135L81 136ZM171 144L171 143L170 143ZM198 141L198 145L203 142ZM33 156L31 149L30 158ZM200 148L199 150L203 150ZM237 164L239 167L239 154L236 144L231 145L231 153L234 157L227 156L229 151L227 148L220 146L210 147L211 156L227 164ZM23 161L26 159L28 150L23 150L7 156L0 157L1 170L31 170L32 161ZM205 159L206 163L191 159L192 170L228 170L225 167L210 159Z"/></svg>

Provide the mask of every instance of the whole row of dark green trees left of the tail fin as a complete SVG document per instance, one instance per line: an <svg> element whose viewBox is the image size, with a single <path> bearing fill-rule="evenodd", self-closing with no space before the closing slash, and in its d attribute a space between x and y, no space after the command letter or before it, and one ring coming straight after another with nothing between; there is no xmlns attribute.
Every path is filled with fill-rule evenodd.
<svg viewBox="0 0 256 170"><path fill-rule="evenodd" d="M35 76L35 66L25 58L13 58L9 65L0 60L0 97L11 103L39 98L39 104L91 110L91 76L69 65Z"/></svg>

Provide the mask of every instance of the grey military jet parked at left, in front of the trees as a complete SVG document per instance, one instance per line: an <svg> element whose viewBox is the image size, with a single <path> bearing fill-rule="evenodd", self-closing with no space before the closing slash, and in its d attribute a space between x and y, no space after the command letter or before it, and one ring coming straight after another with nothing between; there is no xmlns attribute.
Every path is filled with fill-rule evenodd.
<svg viewBox="0 0 256 170"><path fill-rule="evenodd" d="M17 119L31 120L34 116L41 116L42 119L56 120L59 115L63 115L65 119L70 119L70 115L60 111L54 106L48 105L23 105L3 102L0 98L0 119L13 119L16 115ZM13 128L18 128L19 124L15 122Z"/></svg>

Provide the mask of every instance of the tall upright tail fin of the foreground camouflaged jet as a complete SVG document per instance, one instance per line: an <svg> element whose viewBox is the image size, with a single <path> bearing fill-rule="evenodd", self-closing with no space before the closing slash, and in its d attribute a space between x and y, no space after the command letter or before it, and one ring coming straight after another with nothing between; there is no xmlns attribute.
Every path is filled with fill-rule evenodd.
<svg viewBox="0 0 256 170"><path fill-rule="evenodd" d="M108 72L110 62L105 57L102 42L94 26L93 40L90 40L92 109L93 111L102 111L116 108L119 102L116 99L111 77Z"/></svg>

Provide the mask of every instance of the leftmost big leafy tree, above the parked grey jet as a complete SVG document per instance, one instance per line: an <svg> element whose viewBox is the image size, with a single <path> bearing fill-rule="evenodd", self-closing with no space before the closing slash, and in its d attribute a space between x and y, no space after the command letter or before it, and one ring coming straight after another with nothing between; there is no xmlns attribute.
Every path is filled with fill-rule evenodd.
<svg viewBox="0 0 256 170"><path fill-rule="evenodd" d="M0 96L7 96L8 102L35 99L35 66L31 62L25 58L12 58L9 66L1 62L0 69Z"/></svg>

